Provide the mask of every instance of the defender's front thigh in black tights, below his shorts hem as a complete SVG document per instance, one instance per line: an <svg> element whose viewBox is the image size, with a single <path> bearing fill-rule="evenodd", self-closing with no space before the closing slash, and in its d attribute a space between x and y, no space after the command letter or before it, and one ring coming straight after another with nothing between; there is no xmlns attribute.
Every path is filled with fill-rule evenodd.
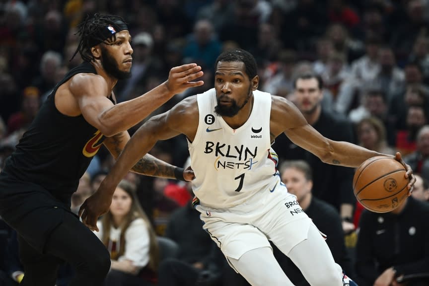
<svg viewBox="0 0 429 286"><path fill-rule="evenodd" d="M69 212L64 212L62 223L50 234L45 252L69 262L73 267L110 263L110 255L104 244Z"/></svg>

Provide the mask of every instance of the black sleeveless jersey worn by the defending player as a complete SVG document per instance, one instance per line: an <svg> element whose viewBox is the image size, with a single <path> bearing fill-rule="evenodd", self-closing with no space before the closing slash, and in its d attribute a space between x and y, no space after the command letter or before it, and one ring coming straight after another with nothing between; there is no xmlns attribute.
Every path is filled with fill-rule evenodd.
<svg viewBox="0 0 429 286"><path fill-rule="evenodd" d="M41 106L4 168L8 175L41 185L66 204L104 141L100 131L82 115L66 116L55 106L58 87L77 73L96 71L85 62L66 74Z"/></svg>

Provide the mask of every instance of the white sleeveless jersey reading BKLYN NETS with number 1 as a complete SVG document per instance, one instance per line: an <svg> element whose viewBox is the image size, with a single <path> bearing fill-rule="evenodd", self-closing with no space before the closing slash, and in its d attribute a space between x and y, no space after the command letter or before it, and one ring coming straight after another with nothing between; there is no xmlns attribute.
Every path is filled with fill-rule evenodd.
<svg viewBox="0 0 429 286"><path fill-rule="evenodd" d="M271 94L255 90L253 97L249 119L234 130L214 113L214 88L197 95L200 119L188 146L196 176L193 191L201 205L233 207L280 183L277 154L270 148Z"/></svg>

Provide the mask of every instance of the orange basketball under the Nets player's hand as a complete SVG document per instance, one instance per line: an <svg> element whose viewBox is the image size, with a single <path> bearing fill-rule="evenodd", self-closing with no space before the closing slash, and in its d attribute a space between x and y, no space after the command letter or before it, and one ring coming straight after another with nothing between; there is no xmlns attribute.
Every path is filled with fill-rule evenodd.
<svg viewBox="0 0 429 286"><path fill-rule="evenodd" d="M396 209L408 197L405 167L387 156L364 161L353 178L353 191L362 206L375 213Z"/></svg>

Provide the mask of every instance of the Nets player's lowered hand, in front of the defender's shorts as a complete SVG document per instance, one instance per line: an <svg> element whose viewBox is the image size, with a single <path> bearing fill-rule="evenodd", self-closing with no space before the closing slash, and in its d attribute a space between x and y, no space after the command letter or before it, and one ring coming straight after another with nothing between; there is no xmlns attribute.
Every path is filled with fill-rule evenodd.
<svg viewBox="0 0 429 286"><path fill-rule="evenodd" d="M101 185L100 185L101 188ZM79 216L92 231L98 231L97 219L100 215L107 213L112 204L112 197L106 196L106 192L100 192L100 188L83 202L79 209ZM102 195L103 194L103 195ZM111 192L113 194L113 192Z"/></svg>

